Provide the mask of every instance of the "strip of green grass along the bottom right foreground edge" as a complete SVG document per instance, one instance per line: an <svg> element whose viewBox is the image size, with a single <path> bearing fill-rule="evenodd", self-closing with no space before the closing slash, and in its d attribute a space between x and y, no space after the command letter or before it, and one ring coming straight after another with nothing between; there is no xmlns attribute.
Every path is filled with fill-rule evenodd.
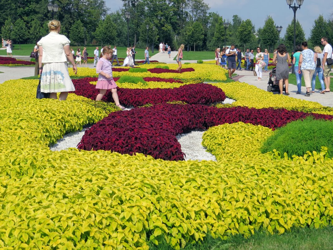
<svg viewBox="0 0 333 250"><path fill-rule="evenodd" d="M202 242L186 244L183 250L332 250L332 241L332 226L320 229L295 228L282 235L256 232L248 239L235 235L222 240L208 235ZM150 243L149 249L173 250L165 240L159 245Z"/></svg>

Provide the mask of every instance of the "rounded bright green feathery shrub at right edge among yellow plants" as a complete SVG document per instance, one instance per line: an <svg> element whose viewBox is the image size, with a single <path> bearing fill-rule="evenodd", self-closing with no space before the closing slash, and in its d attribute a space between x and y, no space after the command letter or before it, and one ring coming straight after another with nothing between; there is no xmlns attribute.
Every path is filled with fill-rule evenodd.
<svg viewBox="0 0 333 250"><path fill-rule="evenodd" d="M275 131L261 147L262 153L276 149L281 153L303 156L307 151L320 152L320 148L328 148L327 156L333 157L333 121L315 120L312 116L288 123Z"/></svg>

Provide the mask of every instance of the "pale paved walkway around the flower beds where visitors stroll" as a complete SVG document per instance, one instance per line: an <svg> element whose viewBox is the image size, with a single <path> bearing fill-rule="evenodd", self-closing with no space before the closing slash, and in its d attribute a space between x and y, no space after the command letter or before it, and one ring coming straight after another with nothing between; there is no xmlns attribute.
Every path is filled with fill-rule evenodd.
<svg viewBox="0 0 333 250"><path fill-rule="evenodd" d="M171 58L168 57L167 53L158 53L154 56L152 56L151 60L158 60L160 62L166 62L166 63L176 63L173 60L173 57L177 54L175 51L171 51ZM194 60L189 61L182 61L182 62L196 62ZM84 67L84 66L81 66ZM87 64L87 67L93 68L93 64ZM80 66L78 66L80 68ZM33 76L35 71L35 67L0 67L0 83L3 83L4 81L11 80L11 79L19 79L22 77L28 77ZM235 81L245 82L250 85L254 85L258 87L259 89L263 89L267 91L267 83L268 83L268 76L269 73L262 73L262 79L261 81L258 81L256 76L253 76L252 71L235 71L238 76L234 77L233 79ZM333 81L332 81L333 84ZM308 100L313 102L318 102L322 104L323 106L330 106L333 107L333 92L320 94L320 90L315 90L316 93L311 94L311 96L306 97L305 92L306 88L302 87L302 94L296 94L297 92L297 86L293 84L289 84L289 97L291 98L297 98L301 100ZM277 94L277 93L276 93Z"/></svg>

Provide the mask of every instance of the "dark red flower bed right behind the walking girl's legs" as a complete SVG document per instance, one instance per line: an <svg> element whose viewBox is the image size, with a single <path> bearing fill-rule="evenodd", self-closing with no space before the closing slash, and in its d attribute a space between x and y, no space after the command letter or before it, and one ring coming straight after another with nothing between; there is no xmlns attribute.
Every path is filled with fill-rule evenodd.
<svg viewBox="0 0 333 250"><path fill-rule="evenodd" d="M76 95L81 95L92 100L96 99L99 89L90 84L97 78L73 79ZM173 89L126 89L117 88L120 103L127 106L143 106L145 104L158 104L168 101L183 101L190 104L209 104L225 100L224 92L215 86L204 83L188 84ZM102 99L106 102L114 102L111 91L107 91Z"/></svg>

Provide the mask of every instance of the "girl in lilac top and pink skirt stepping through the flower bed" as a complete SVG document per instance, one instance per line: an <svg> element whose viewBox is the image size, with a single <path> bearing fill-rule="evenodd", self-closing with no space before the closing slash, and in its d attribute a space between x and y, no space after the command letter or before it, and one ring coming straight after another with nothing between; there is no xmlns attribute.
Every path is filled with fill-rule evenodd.
<svg viewBox="0 0 333 250"><path fill-rule="evenodd" d="M116 105L125 109L119 103L119 98L117 94L117 84L112 78L112 64L110 62L110 58L112 57L113 50L110 47L104 47L103 53L100 55L100 60L97 63L96 73L98 73L98 79L96 88L100 89L100 93L96 97L96 101L102 100L108 89L111 89L112 98L115 101Z"/></svg>

